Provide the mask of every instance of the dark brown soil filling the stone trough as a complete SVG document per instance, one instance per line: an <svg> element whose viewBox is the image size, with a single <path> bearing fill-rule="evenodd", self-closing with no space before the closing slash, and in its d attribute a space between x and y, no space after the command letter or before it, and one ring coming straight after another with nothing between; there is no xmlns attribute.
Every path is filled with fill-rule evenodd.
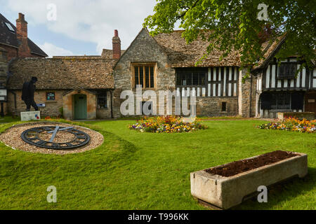
<svg viewBox="0 0 316 224"><path fill-rule="evenodd" d="M272 163L279 162L281 160L286 160L294 156L298 156L298 154L285 151L274 151L272 153L265 153L263 155L259 155L256 158L230 162L226 165L206 169L205 171L209 174L217 174L220 176L234 176L236 174L241 174L251 169L256 169L258 167L270 165Z"/></svg>

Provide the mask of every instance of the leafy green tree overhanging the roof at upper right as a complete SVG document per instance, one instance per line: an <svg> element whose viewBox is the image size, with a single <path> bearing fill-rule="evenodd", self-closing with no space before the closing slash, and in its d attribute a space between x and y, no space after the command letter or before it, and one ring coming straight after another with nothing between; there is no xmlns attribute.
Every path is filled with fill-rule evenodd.
<svg viewBox="0 0 316 224"><path fill-rule="evenodd" d="M153 36L171 32L176 23L185 29L183 38L209 41L206 57L214 48L223 57L239 50L242 66L263 59L261 44L278 36L286 38L276 57L296 55L307 64L315 59L316 4L308 0L157 0L154 15L145 18L144 27ZM197 63L198 64L198 63Z"/></svg>

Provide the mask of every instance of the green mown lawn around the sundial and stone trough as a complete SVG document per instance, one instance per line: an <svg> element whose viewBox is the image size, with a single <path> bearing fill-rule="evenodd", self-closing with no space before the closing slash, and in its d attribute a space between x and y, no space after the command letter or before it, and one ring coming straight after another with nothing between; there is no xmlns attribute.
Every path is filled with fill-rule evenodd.
<svg viewBox="0 0 316 224"><path fill-rule="evenodd" d="M0 144L0 209L205 209L190 195L190 172L275 150L308 153L309 175L273 188L268 203L234 209L316 209L316 135L254 128L263 122L208 120L208 130L152 134L127 129L132 120L93 121L104 144L74 155Z"/></svg>

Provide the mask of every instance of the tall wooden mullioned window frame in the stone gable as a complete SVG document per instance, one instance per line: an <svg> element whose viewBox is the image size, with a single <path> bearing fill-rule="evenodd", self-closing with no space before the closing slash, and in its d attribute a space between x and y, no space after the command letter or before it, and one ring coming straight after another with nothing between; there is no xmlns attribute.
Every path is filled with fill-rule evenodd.
<svg viewBox="0 0 316 224"><path fill-rule="evenodd" d="M132 89L135 90L136 89L136 78L135 78L135 72L136 72L136 67L138 67L138 85L140 85L140 67L143 67L143 87L142 89L146 89L146 90L155 90L156 89L156 77L157 77L157 63L156 62L144 62L144 63L131 63L131 83L133 85ZM148 67L148 84L149 87L146 87L146 67ZM153 83L153 87L151 86L152 84L152 69L150 69L151 67L153 67L153 79L154 79L154 83Z"/></svg>

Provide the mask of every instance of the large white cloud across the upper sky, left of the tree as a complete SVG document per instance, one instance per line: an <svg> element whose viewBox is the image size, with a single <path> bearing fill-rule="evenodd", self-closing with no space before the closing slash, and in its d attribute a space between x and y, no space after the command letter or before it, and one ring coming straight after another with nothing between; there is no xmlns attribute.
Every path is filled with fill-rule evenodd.
<svg viewBox="0 0 316 224"><path fill-rule="evenodd" d="M51 3L56 20L48 20ZM6 8L25 13L29 25L46 25L48 30L78 41L96 43L96 52L112 49L114 29L119 30L122 48L127 48L152 14L155 0L7 0Z"/></svg>

